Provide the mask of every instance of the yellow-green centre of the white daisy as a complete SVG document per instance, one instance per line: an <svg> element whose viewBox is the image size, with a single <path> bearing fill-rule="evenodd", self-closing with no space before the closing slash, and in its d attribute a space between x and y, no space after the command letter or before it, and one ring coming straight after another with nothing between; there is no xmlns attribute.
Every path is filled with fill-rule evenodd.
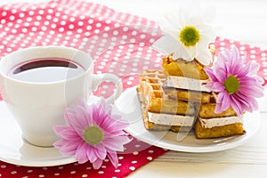
<svg viewBox="0 0 267 178"><path fill-rule="evenodd" d="M185 26L180 31L179 37L182 44L186 46L194 46L198 43L200 34L197 28Z"/></svg>

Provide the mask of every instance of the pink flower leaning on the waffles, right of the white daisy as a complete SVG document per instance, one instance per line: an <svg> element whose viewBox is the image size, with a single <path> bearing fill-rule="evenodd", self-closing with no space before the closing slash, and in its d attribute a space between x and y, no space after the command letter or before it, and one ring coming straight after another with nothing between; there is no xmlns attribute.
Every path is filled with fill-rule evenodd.
<svg viewBox="0 0 267 178"><path fill-rule="evenodd" d="M232 52L219 53L212 68L206 68L210 82L206 87L218 93L215 113L221 113L230 106L238 116L245 110L252 112L258 109L255 98L263 96L263 78L257 76L260 68L252 61L247 64L247 55L239 56L237 47Z"/></svg>

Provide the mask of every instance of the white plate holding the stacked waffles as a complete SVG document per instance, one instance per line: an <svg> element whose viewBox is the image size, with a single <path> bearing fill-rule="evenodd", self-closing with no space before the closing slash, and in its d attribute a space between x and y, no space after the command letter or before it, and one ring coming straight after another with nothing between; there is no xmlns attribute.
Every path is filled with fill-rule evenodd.
<svg viewBox="0 0 267 178"><path fill-rule="evenodd" d="M142 142L147 142L167 150L177 150L185 152L211 152L218 150L228 150L247 142L260 127L261 115L259 112L246 113L244 115L244 127L246 134L216 138L216 139L197 139L193 131L186 136L175 134L174 132L157 132L145 129L142 122L142 112L140 102L137 97L136 88L127 89L115 101L114 113L120 114L130 123L125 129ZM182 140L177 141L177 135Z"/></svg>

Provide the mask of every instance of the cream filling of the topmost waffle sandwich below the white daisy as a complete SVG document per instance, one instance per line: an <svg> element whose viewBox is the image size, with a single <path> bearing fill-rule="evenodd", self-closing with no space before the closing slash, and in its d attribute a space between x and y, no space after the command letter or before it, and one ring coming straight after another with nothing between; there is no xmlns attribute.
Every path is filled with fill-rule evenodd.
<svg viewBox="0 0 267 178"><path fill-rule="evenodd" d="M166 85L174 88L181 88L193 91L211 92L206 88L208 80L198 80L189 77L169 76L166 80Z"/></svg>

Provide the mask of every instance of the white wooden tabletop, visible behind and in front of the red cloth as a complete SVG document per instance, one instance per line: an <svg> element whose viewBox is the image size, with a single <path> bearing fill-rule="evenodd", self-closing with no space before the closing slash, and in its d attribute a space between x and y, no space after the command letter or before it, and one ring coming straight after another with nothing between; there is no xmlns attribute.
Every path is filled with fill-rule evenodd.
<svg viewBox="0 0 267 178"><path fill-rule="evenodd" d="M87 0L90 1L90 0ZM0 4L36 2L0 0ZM91 0L150 20L161 20L168 9L188 3L184 0ZM217 35L267 49L267 1L201 0L200 6L214 5ZM267 88L265 95L267 95ZM260 131L244 145L213 153L169 151L142 166L129 177L267 177L267 98L260 100Z"/></svg>

